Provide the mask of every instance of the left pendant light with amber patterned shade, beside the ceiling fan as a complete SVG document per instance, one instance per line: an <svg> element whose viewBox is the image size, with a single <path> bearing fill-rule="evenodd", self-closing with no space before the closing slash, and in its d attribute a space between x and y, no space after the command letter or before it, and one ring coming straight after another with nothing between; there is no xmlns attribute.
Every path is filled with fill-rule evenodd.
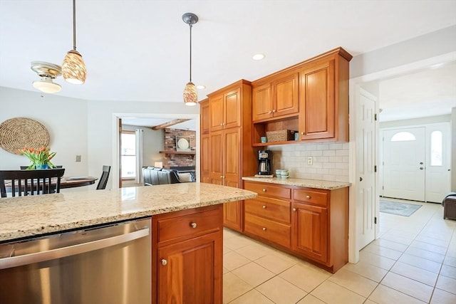
<svg viewBox="0 0 456 304"><path fill-rule="evenodd" d="M76 51L76 0L73 0L73 49L68 51L62 63L62 75L68 83L82 85L86 81L86 64Z"/></svg>

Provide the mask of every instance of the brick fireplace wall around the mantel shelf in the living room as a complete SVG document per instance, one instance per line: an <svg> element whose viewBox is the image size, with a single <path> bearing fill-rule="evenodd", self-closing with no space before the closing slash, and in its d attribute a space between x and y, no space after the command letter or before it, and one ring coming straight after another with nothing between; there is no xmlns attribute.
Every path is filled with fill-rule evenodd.
<svg viewBox="0 0 456 304"><path fill-rule="evenodd" d="M196 149L196 132L180 129L165 129L165 147L163 151L176 151L176 136L190 137L190 148ZM190 154L164 154L163 167L188 167L196 166L196 155Z"/></svg>

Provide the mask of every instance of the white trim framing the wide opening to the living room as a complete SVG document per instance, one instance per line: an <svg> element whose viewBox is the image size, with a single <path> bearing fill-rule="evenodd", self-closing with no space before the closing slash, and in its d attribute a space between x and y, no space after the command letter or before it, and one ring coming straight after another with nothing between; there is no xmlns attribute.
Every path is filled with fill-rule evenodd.
<svg viewBox="0 0 456 304"><path fill-rule="evenodd" d="M113 156L113 165L111 167L112 172L112 179L111 179L111 187L112 189L119 188L119 120L121 118L165 118L165 119L177 119L177 118L184 118L184 119L192 119L196 120L196 166L195 171L199 172L199 114L154 114L154 113L113 113L112 116L112 125L113 125L113 147L112 147L112 156ZM199 174L196 174L197 182L199 182Z"/></svg>

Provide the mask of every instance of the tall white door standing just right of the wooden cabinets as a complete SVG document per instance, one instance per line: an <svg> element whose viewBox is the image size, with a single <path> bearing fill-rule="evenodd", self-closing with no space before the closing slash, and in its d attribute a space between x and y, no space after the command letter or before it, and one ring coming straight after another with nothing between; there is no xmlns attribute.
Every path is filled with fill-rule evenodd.
<svg viewBox="0 0 456 304"><path fill-rule="evenodd" d="M356 113L357 249L375 239L375 97L360 88Z"/></svg>

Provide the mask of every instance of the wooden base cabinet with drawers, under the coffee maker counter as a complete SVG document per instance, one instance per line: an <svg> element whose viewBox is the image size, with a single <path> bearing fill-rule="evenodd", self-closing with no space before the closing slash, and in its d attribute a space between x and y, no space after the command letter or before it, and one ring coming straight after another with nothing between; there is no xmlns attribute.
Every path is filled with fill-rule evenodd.
<svg viewBox="0 0 456 304"><path fill-rule="evenodd" d="M244 234L338 271L348 262L348 187L327 190L244 181Z"/></svg>

